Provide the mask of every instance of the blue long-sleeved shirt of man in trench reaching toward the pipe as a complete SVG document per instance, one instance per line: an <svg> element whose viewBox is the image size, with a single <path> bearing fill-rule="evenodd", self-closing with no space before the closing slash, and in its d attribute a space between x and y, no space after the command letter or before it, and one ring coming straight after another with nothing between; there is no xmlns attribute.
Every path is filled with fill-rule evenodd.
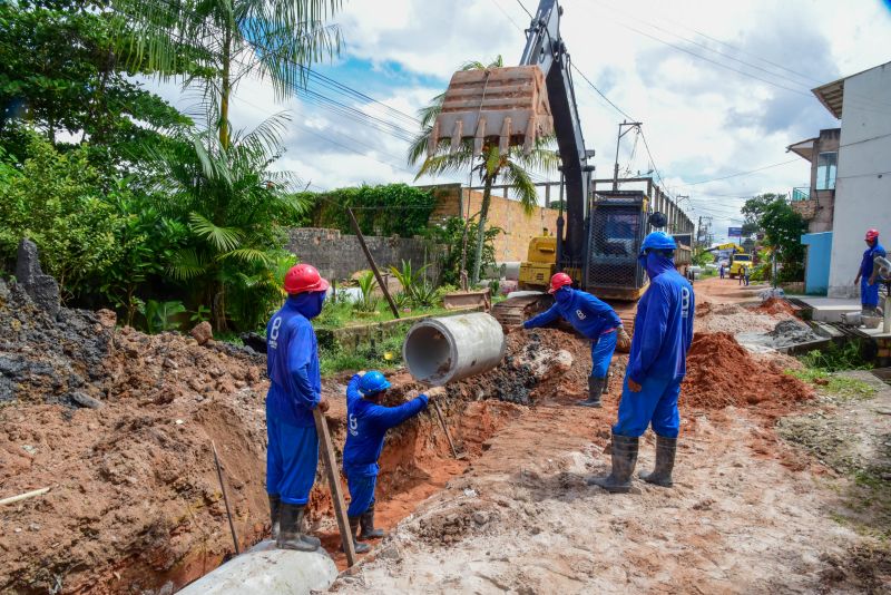
<svg viewBox="0 0 891 595"><path fill-rule="evenodd" d="M366 401L359 392L355 374L346 387L346 445L343 447L343 470L360 475L378 475L378 459L383 450L386 430L427 408L427 396L421 394L399 407L383 407Z"/></svg>

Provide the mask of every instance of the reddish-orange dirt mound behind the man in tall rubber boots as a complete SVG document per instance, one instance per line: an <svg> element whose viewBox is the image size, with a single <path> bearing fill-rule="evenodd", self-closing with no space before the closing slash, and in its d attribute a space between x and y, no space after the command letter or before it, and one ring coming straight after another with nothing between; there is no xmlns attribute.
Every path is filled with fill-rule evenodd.
<svg viewBox="0 0 891 595"><path fill-rule="evenodd" d="M754 359L730 333L696 333L687 354L682 406L789 406L814 397L801 380L770 361Z"/></svg>

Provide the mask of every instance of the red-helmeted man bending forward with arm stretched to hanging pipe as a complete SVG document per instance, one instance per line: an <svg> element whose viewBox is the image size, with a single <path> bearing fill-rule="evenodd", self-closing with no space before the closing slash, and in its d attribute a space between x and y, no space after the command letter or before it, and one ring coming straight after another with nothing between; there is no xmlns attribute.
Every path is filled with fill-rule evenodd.
<svg viewBox="0 0 891 595"><path fill-rule="evenodd" d="M550 279L548 293L554 294L555 303L541 314L523 322L523 329L545 326L562 316L591 342L591 373L588 377L588 398L579 401L584 407L601 407L600 396L605 392L609 362L616 351L617 340L628 340L616 311L590 293L574 290L572 279L566 273L557 273ZM508 330L510 332L510 330Z"/></svg>

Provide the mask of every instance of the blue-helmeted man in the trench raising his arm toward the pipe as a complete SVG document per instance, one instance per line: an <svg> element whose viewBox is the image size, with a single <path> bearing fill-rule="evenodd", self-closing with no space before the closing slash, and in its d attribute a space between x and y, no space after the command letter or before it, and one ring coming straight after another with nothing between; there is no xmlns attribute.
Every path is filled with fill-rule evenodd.
<svg viewBox="0 0 891 595"><path fill-rule="evenodd" d="M384 535L382 530L374 528L374 486L380 471L378 459L383 450L384 435L390 428L395 428L427 409L427 394L420 394L399 407L382 406L389 388L390 382L376 370L359 372L346 387L347 427L346 445L343 447L343 472L350 488L346 516L350 518L353 544L359 554L369 550L366 544L356 542L355 535L360 526L360 539Z"/></svg>

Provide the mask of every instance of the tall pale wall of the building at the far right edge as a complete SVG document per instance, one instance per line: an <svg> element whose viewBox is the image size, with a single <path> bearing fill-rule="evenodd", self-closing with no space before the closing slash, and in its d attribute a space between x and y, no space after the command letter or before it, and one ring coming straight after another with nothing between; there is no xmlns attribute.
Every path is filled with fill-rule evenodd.
<svg viewBox="0 0 891 595"><path fill-rule="evenodd" d="M853 298L863 234L891 238L891 64L844 81L829 295Z"/></svg>

